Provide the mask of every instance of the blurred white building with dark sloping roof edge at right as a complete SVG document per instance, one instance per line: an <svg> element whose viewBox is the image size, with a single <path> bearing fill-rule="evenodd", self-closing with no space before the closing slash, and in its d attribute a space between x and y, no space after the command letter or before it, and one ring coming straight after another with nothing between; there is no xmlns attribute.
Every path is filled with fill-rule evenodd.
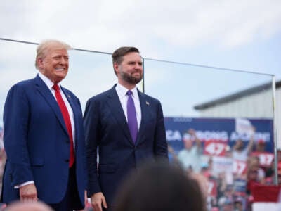
<svg viewBox="0 0 281 211"><path fill-rule="evenodd" d="M275 113L277 147L281 148L281 81L276 82ZM272 84L261 84L228 96L194 106L200 117L266 118L273 119Z"/></svg>

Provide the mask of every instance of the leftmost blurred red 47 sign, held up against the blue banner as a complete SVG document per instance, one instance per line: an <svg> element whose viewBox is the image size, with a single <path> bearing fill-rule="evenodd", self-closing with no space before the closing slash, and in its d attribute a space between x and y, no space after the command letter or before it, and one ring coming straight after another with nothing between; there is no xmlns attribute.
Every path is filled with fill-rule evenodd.
<svg viewBox="0 0 281 211"><path fill-rule="evenodd" d="M204 155L224 156L226 155L226 143L218 141L206 141L204 143Z"/></svg>

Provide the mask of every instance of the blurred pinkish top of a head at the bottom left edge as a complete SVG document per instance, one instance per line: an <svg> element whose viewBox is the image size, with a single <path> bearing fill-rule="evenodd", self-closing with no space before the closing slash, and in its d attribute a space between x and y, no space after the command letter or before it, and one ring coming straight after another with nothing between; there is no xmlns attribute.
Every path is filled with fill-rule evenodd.
<svg viewBox="0 0 281 211"><path fill-rule="evenodd" d="M15 202L8 205L5 211L53 211L53 209L41 202Z"/></svg>

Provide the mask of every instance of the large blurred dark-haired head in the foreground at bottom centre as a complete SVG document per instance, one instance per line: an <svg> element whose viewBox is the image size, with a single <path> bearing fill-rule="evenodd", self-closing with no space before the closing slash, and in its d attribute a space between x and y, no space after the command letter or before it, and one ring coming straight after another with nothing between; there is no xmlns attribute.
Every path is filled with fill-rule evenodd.
<svg viewBox="0 0 281 211"><path fill-rule="evenodd" d="M115 211L205 210L197 181L167 163L144 165L119 190Z"/></svg>

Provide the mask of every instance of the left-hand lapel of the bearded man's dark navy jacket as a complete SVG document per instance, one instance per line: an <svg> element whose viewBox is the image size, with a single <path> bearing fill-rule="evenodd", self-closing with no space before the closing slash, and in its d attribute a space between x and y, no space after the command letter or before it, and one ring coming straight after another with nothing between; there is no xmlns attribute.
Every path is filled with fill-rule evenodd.
<svg viewBox="0 0 281 211"><path fill-rule="evenodd" d="M127 139L129 139L130 143L133 144L133 139L131 138L128 123L126 121L126 116L124 115L124 111L115 87L112 87L112 89L110 89L107 94L107 105L110 107L113 117L115 117L115 120L117 120L117 122L119 123Z"/></svg>

